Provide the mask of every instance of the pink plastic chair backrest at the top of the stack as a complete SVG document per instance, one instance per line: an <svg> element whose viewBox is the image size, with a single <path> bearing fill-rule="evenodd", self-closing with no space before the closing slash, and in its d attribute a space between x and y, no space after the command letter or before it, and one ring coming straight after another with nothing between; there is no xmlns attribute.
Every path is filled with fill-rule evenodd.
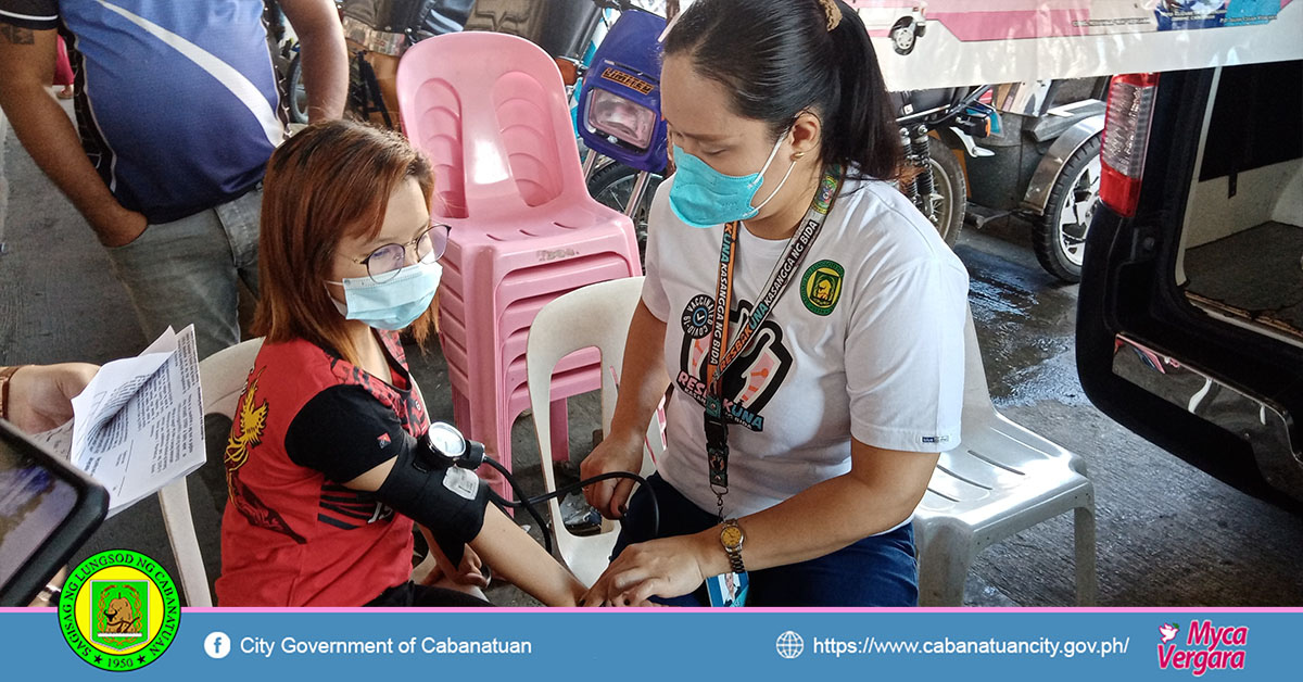
<svg viewBox="0 0 1303 682"><path fill-rule="evenodd" d="M403 55L399 110L435 168L442 218L516 214L586 197L555 60L515 35L435 35Z"/></svg>

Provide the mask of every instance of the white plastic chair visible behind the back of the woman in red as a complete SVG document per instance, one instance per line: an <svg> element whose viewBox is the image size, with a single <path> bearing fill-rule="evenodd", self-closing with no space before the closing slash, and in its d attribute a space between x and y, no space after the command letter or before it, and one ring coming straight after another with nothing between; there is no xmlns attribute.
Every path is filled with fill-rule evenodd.
<svg viewBox="0 0 1303 682"><path fill-rule="evenodd" d="M262 339L250 339L218 351L199 363L205 415L227 417L235 415L236 403L240 402L245 379L254 359L258 357L259 348ZM212 593L208 591L208 575L203 570L199 539L194 533L194 516L190 514L190 496L185 488L185 479L159 490L159 507L163 510L163 526L167 528L168 542L176 557L186 602L190 606L211 606Z"/></svg>

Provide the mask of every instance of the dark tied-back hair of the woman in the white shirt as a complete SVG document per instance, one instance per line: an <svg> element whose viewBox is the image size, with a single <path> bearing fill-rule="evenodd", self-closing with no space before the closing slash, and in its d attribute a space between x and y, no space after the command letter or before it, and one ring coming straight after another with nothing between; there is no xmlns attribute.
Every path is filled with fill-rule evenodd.
<svg viewBox="0 0 1303 682"><path fill-rule="evenodd" d="M831 31L820 0L697 0L666 37L666 56L685 53L728 87L734 111L779 136L810 111L823 123L822 160L856 176L890 179L900 132L864 22L837 1ZM857 171L857 172L856 172Z"/></svg>

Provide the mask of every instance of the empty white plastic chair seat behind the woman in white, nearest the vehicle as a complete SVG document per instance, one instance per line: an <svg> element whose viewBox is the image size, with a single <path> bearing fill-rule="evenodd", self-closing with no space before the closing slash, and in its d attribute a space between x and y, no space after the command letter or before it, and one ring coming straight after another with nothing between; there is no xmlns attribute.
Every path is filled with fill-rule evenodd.
<svg viewBox="0 0 1303 682"><path fill-rule="evenodd" d="M1085 462L995 411L971 312L964 353L962 442L942 452L915 511L919 604L962 606L964 579L981 550L1070 510L1076 602L1095 604L1095 485Z"/></svg>

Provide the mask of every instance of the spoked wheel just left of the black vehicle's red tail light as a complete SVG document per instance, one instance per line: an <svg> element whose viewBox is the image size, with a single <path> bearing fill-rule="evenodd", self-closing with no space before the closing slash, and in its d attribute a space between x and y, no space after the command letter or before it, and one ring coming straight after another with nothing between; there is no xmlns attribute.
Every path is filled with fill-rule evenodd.
<svg viewBox="0 0 1303 682"><path fill-rule="evenodd" d="M1085 235L1100 206L1100 136L1068 156L1050 189L1045 213L1032 227L1032 248L1046 273L1075 284L1081 280Z"/></svg>

